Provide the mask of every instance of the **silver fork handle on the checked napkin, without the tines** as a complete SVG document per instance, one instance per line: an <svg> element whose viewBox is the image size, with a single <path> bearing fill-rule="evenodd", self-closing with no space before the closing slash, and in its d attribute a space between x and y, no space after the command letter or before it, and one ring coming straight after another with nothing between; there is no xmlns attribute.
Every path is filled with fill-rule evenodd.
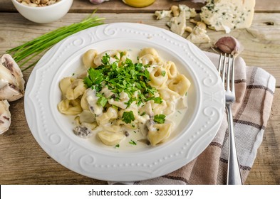
<svg viewBox="0 0 280 199"><path fill-rule="evenodd" d="M232 104L227 104L226 109L227 119L229 121L229 161L227 166L227 184L242 185L242 178L240 175L239 162L237 157L237 148L235 146L234 140Z"/></svg>

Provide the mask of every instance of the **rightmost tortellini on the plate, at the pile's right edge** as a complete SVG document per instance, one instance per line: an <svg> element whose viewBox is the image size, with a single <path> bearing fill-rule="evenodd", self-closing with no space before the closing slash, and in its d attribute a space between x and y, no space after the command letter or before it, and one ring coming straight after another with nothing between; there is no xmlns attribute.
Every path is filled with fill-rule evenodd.
<svg viewBox="0 0 280 199"><path fill-rule="evenodd" d="M190 87L190 80L185 77L185 75L177 75L175 79L171 80L170 83L168 84L168 88L170 90L173 90L179 95L184 96L187 93L187 90L189 90Z"/></svg>

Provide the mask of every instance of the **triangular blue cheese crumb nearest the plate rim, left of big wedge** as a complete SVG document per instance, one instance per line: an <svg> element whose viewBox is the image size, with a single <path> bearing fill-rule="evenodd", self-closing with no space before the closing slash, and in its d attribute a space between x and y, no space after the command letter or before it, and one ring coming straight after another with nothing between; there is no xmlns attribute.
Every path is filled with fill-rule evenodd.
<svg viewBox="0 0 280 199"><path fill-rule="evenodd" d="M167 22L167 26L170 27L170 31L180 36L183 35L186 28L186 13L180 12L179 16L174 16Z"/></svg>

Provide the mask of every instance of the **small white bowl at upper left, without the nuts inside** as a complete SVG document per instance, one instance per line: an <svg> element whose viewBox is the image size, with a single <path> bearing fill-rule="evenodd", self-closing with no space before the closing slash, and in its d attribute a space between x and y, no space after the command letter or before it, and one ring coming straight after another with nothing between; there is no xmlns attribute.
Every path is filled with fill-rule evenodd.
<svg viewBox="0 0 280 199"><path fill-rule="evenodd" d="M73 0L61 0L50 6L31 7L25 6L16 0L11 1L22 16L36 23L57 21L68 13L73 3Z"/></svg>

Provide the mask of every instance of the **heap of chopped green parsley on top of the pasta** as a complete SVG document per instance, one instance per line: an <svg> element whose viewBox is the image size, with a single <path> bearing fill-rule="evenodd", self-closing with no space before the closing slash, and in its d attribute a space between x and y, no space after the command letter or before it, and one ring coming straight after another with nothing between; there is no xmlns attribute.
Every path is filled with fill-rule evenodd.
<svg viewBox="0 0 280 199"><path fill-rule="evenodd" d="M123 55L124 53L120 52L120 58ZM157 89L148 84L150 82L150 72L147 67L150 67L150 65L133 63L128 58L120 63L120 58L115 56L115 62L111 63L110 55L105 54L101 60L102 64L97 68L89 68L88 76L83 79L85 87L96 90L97 97L100 97L98 104L105 107L108 102L106 97L99 95L103 87L108 87L114 93L115 101L120 99L121 92L127 93L129 97L128 102L125 102L127 108L133 102L138 106L149 100L154 100L157 104L162 103L160 97L155 97ZM162 71L162 75L165 75L165 71Z"/></svg>

